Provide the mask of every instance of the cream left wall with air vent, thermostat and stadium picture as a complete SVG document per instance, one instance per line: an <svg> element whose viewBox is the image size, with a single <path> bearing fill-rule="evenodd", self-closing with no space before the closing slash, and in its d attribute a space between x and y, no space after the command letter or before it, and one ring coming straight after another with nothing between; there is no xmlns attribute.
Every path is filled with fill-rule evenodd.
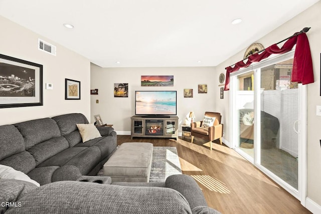
<svg viewBox="0 0 321 214"><path fill-rule="evenodd" d="M0 109L0 125L64 113L90 117L90 61L0 16L0 53L43 65L43 106ZM38 50L38 38L57 46L57 56ZM81 100L65 100L65 78L81 82ZM54 89L46 90L45 83Z"/></svg>

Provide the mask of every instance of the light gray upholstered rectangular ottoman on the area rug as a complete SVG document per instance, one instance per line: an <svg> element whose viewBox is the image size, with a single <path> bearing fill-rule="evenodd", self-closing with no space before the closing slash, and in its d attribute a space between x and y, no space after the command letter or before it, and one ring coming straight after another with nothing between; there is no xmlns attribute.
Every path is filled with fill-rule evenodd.
<svg viewBox="0 0 321 214"><path fill-rule="evenodd" d="M122 143L104 164L104 176L112 182L148 182L152 143Z"/></svg>

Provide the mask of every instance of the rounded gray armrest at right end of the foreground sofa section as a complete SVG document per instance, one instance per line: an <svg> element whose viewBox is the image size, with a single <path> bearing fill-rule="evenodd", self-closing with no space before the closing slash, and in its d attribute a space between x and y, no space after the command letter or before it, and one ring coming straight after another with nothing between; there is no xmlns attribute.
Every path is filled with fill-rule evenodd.
<svg viewBox="0 0 321 214"><path fill-rule="evenodd" d="M180 192L189 202L191 209L197 206L207 206L204 194L197 182L189 175L175 174L165 181L166 187Z"/></svg>

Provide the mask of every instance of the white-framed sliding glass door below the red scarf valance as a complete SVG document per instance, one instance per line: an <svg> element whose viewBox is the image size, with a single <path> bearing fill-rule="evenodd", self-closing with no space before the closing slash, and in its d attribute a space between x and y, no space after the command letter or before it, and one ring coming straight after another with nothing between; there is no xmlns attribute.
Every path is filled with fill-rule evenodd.
<svg viewBox="0 0 321 214"><path fill-rule="evenodd" d="M306 92L290 81L293 54L231 74L231 139L237 152L302 200Z"/></svg>

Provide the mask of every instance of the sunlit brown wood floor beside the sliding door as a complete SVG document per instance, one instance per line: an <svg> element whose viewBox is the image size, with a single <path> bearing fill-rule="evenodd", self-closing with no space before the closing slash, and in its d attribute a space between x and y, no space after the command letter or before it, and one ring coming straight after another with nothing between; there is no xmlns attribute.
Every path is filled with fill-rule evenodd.
<svg viewBox="0 0 321 214"><path fill-rule="evenodd" d="M190 137L184 140L134 138L117 135L123 142L150 142L154 146L175 146L183 174L189 174L200 185L210 207L222 213L311 213L300 202L265 176L233 149L209 144Z"/></svg>

